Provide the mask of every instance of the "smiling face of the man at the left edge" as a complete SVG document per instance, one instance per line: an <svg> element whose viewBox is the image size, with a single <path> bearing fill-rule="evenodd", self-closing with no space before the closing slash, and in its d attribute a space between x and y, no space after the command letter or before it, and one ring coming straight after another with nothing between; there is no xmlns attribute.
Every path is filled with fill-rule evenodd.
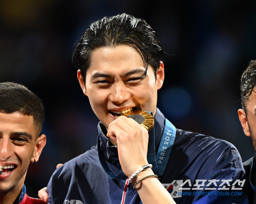
<svg viewBox="0 0 256 204"><path fill-rule="evenodd" d="M0 192L23 185L27 168L36 152L36 134L32 116L0 113L0 166L3 169Z"/></svg>

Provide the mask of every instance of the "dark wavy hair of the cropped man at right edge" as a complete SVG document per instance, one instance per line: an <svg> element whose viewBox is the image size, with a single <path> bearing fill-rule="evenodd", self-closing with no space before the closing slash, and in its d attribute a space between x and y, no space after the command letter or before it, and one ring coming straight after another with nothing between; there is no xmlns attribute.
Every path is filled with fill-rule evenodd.
<svg viewBox="0 0 256 204"><path fill-rule="evenodd" d="M241 90L241 101L242 108L247 114L246 111L246 102L250 97L254 87L256 86L256 60L252 60L240 80L240 90Z"/></svg>

